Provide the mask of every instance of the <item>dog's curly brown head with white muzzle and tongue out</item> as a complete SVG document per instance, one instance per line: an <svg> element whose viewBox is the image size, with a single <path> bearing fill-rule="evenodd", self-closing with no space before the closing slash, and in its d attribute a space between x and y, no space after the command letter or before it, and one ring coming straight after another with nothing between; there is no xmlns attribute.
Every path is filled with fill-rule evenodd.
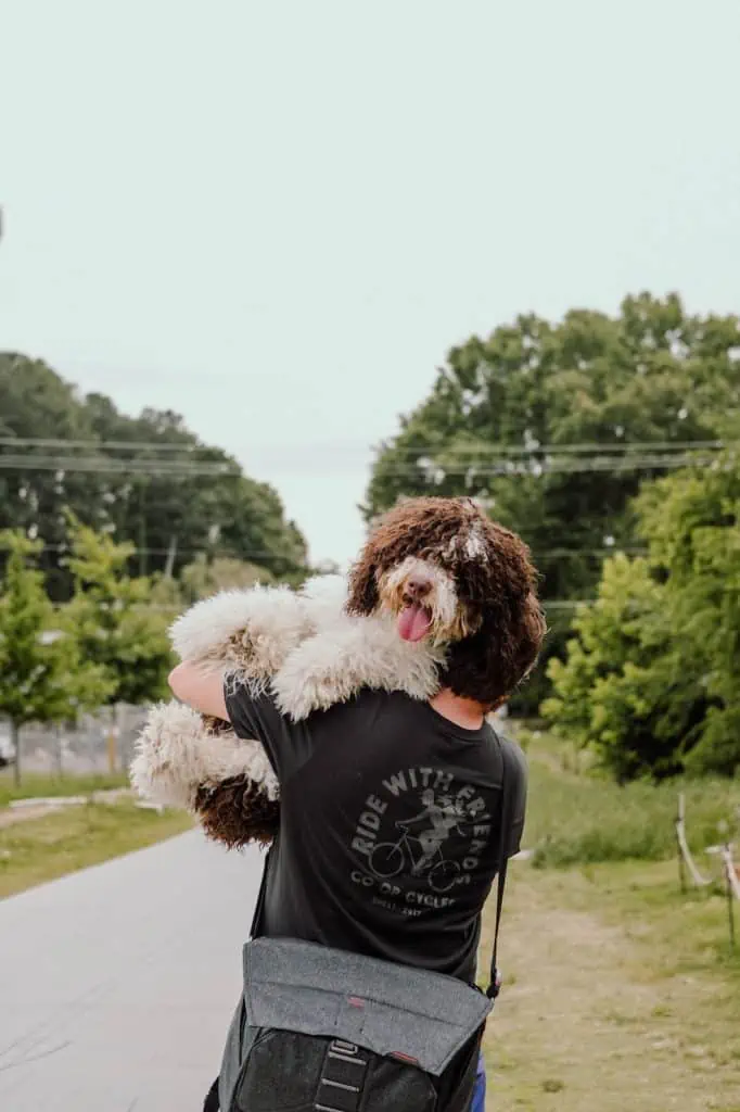
<svg viewBox="0 0 740 1112"><path fill-rule="evenodd" d="M470 498L409 498L350 573L350 614L390 613L404 641L448 649L443 683L484 705L531 671L544 636L529 549Z"/></svg>

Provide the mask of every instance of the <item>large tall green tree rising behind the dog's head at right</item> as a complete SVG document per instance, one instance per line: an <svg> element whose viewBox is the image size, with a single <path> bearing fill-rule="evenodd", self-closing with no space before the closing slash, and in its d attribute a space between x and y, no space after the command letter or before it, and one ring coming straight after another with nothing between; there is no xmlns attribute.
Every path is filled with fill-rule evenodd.
<svg viewBox="0 0 740 1112"><path fill-rule="evenodd" d="M691 316L676 295L628 297L617 317L521 316L473 336L381 446L363 513L401 495L478 497L530 545L546 604L591 598L614 549L644 546L632 500L687 461L671 446L728 434L739 354L737 317ZM544 666L564 648L566 613L548 612ZM541 678L516 703L533 711Z"/></svg>

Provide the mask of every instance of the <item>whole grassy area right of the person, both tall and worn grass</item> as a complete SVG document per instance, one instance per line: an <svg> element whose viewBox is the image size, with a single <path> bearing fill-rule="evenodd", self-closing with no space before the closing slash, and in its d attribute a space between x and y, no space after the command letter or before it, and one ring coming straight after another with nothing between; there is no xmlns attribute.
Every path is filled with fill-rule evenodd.
<svg viewBox="0 0 740 1112"><path fill-rule="evenodd" d="M578 775L547 737L528 748L527 842L558 867L511 867L488 1108L740 1112L740 952L723 896L682 894L667 860L677 786L621 790ZM697 846L716 840L738 785L686 791ZM483 962L492 927L491 904Z"/></svg>

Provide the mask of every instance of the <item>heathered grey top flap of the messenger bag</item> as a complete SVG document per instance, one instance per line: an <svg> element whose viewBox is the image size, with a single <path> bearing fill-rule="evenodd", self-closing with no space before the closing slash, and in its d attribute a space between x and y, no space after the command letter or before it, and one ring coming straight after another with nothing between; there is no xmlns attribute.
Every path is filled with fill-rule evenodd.
<svg viewBox="0 0 740 1112"><path fill-rule="evenodd" d="M454 977L292 939L244 946L247 1023L342 1039L439 1076L491 1002Z"/></svg>

